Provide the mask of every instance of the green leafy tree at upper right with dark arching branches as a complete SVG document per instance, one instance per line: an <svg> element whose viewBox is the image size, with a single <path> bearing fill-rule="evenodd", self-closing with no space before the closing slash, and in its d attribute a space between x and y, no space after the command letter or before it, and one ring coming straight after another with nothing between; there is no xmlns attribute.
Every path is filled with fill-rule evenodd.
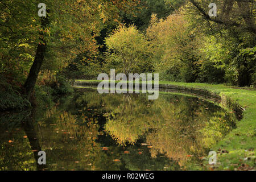
<svg viewBox="0 0 256 182"><path fill-rule="evenodd" d="M204 32L206 36L214 35L213 43L216 42L219 48L208 57L211 60L215 57L214 61L218 61L217 67L224 68L225 81L237 86L253 85L255 67L251 63L255 59L253 56L256 38L255 2L217 1L216 17L210 17L208 14L210 1L189 0L187 2L185 9L191 14L189 19L193 24L200 24L197 31ZM245 50L250 53L245 53ZM221 55L222 53L225 55ZM208 62L208 60L205 61Z"/></svg>

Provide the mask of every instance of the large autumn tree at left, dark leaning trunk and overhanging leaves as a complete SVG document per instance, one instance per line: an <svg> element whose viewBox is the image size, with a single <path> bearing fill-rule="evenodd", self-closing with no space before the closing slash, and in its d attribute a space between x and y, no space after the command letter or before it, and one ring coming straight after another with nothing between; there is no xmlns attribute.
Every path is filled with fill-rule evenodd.
<svg viewBox="0 0 256 182"><path fill-rule="evenodd" d="M118 8L137 2L46 0L46 17L39 17L39 1L1 1L1 73L11 82L27 76L24 92L30 98L42 68L61 72L79 53L93 57L104 23L118 17Z"/></svg>

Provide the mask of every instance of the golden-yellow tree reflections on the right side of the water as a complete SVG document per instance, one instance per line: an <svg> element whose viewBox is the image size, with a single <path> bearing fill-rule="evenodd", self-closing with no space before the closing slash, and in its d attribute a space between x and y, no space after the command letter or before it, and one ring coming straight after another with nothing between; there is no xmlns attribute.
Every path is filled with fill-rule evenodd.
<svg viewBox="0 0 256 182"><path fill-rule="evenodd" d="M106 130L121 145L146 138L153 158L165 154L183 165L191 156L204 156L234 127L220 107L197 98L164 95L145 101L121 102L106 115Z"/></svg>

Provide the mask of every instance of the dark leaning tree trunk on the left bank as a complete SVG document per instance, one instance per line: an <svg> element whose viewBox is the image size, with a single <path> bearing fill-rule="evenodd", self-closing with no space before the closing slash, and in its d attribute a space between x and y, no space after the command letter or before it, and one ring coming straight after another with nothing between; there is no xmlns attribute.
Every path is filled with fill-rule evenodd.
<svg viewBox="0 0 256 182"><path fill-rule="evenodd" d="M47 25L49 24L48 18L42 18L42 28L43 31L46 30ZM46 53L46 41L44 39L44 32L40 31L40 43L38 44L38 48L36 49L36 55L34 63L32 64L32 67L30 68L30 73L27 77L27 80L24 84L24 89L27 94L27 99L30 99L31 93L34 90L36 79L38 78L38 74L40 72L40 68L42 66L44 55Z"/></svg>

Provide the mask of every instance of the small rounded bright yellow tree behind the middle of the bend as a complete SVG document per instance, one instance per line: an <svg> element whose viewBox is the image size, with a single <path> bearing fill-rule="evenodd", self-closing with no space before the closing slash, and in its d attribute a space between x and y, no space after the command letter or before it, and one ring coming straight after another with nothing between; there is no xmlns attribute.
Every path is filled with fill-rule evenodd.
<svg viewBox="0 0 256 182"><path fill-rule="evenodd" d="M110 64L122 68L128 75L133 71L147 71L148 42L135 26L119 26L106 38Z"/></svg>

